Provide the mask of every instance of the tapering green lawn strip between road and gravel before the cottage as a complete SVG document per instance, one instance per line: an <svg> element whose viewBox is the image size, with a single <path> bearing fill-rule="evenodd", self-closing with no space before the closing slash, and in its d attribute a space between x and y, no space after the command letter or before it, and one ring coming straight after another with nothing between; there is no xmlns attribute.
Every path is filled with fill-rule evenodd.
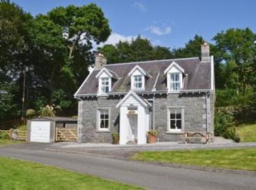
<svg viewBox="0 0 256 190"><path fill-rule="evenodd" d="M233 170L256 171L256 148L142 151L132 159Z"/></svg>

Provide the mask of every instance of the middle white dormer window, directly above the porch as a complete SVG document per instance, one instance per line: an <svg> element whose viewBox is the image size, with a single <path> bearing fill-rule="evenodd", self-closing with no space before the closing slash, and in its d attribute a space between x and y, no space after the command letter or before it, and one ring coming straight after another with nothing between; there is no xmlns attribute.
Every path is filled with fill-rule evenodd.
<svg viewBox="0 0 256 190"><path fill-rule="evenodd" d="M131 77L131 89L132 90L145 90L146 77L151 77L144 69L139 65L136 65L129 73Z"/></svg>

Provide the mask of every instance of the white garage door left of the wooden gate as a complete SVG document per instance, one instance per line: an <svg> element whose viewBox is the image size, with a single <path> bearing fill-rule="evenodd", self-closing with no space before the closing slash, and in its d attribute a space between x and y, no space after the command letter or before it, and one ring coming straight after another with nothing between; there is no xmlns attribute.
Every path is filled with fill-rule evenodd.
<svg viewBox="0 0 256 190"><path fill-rule="evenodd" d="M50 143L50 121L31 121L30 141Z"/></svg>

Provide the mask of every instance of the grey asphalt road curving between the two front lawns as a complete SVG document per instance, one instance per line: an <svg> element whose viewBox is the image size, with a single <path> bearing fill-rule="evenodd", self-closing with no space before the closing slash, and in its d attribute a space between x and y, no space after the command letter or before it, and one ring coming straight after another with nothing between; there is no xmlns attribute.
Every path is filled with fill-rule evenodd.
<svg viewBox="0 0 256 190"><path fill-rule="evenodd" d="M172 168L15 146L0 147L0 156L32 160L151 189L256 189L256 177L250 175Z"/></svg>

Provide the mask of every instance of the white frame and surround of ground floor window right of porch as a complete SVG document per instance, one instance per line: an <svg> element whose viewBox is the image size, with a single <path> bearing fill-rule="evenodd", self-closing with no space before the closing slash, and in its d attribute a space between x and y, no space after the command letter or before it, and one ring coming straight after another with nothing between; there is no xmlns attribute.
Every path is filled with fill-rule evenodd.
<svg viewBox="0 0 256 190"><path fill-rule="evenodd" d="M170 111L171 110L180 110L181 119L170 119ZM176 116L175 116L176 117ZM175 129L170 128L170 121L171 120L180 120L181 121L181 129L177 127ZM170 106L167 107L167 133L182 133L184 131L184 106Z"/></svg>

